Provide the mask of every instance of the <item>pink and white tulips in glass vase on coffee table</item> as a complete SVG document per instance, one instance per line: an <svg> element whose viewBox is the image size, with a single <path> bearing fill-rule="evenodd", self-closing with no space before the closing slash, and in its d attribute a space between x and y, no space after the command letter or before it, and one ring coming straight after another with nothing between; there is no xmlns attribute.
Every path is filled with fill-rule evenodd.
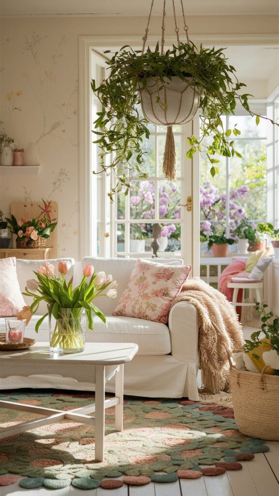
<svg viewBox="0 0 279 496"><path fill-rule="evenodd" d="M105 315L93 304L93 300L99 296L116 298L117 283L112 280L111 275L94 271L92 265L84 266L82 280L75 288L72 287L72 278L68 283L65 279L68 273L67 262L59 262L58 272L59 276L56 276L54 265L49 262L45 262L38 268L38 272L34 272L37 279L28 280L23 293L24 296L32 297L33 303L30 307L24 307L18 318L30 320L40 302L46 302L48 312L36 323L36 332L46 317L50 320L53 317L55 327L50 338L51 348L66 352L82 351L85 336L84 313L87 315L88 327L91 330L92 314L106 323Z"/></svg>

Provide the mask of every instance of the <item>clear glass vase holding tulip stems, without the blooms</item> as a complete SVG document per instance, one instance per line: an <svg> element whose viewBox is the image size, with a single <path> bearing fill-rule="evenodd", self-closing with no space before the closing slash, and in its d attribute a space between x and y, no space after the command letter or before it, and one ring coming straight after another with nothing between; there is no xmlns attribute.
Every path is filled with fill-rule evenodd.
<svg viewBox="0 0 279 496"><path fill-rule="evenodd" d="M85 312L83 309L59 309L59 317L49 318L50 351L80 353L85 344Z"/></svg>

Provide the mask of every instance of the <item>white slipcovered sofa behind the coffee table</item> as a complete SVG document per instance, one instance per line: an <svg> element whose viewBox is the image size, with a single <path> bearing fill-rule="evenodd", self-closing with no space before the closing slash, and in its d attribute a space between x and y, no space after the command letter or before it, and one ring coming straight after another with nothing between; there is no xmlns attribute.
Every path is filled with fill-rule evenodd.
<svg viewBox="0 0 279 496"><path fill-rule="evenodd" d="M58 265L61 259L49 260ZM104 270L117 280L118 296L116 300L99 298L94 301L107 317L107 327L94 317L94 330L86 333L87 342L130 342L139 345L139 352L132 362L125 365L124 392L128 395L145 397L180 398L188 397L198 400L197 372L198 355L198 316L196 309L180 302L172 308L168 325L139 318L115 317L112 315L116 304L127 286L136 259L124 258L92 258L85 257L82 262L68 261L70 270L67 277L73 275L74 284L80 281L83 265L90 263L95 270ZM181 264L181 260L158 259L168 264ZM42 260L17 260L17 276L21 291L27 279L34 277L33 270L42 264ZM30 304L25 298L26 304ZM25 336L36 341L48 341L48 319L35 332L35 323L47 309L42 303L31 322L26 327ZM4 319L0 319L0 331L4 332ZM28 377L12 376L2 379L1 389L19 387L55 387L60 389L90 390L92 383L89 377L84 382L77 382L70 377L53 375L30 375ZM108 384L107 391L113 390Z"/></svg>

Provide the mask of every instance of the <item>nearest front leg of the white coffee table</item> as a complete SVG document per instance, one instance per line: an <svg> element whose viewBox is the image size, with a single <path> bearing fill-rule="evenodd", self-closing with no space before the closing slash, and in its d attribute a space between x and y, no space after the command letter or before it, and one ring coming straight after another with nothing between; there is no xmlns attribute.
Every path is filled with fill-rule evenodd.
<svg viewBox="0 0 279 496"><path fill-rule="evenodd" d="M95 460L104 460L105 440L105 367L96 365Z"/></svg>

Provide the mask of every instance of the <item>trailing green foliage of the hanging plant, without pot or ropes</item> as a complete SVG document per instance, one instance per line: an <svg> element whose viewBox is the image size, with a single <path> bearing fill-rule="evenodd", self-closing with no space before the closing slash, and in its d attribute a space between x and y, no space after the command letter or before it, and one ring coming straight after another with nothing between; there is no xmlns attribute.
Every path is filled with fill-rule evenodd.
<svg viewBox="0 0 279 496"><path fill-rule="evenodd" d="M97 135L94 142L101 150L100 166L102 172L113 169L117 179L116 186L109 193L111 199L123 187L125 194L128 194L133 177L147 177L142 166L144 152L141 144L144 137L149 138L149 129L146 119L139 115L138 106L139 92L146 86L148 77L158 82L158 92L161 83L178 76L194 86L200 94L201 133L199 137L188 137L188 159L196 153L202 153L210 164L213 177L218 172L218 156L236 155L241 158L233 139L240 134L240 130L236 126L225 130L221 116L234 114L237 103L240 103L251 116L256 116L257 125L260 117L267 118L250 110L248 97L252 95L241 92L246 85L238 81L236 70L228 63L223 50L201 45L198 51L190 42L173 45L164 55L160 55L158 44L154 50L148 47L143 54L124 46L107 62L109 76L98 87L96 81L92 80L92 90L102 104L93 130ZM191 76L193 79L189 79ZM157 103L164 105L159 93ZM209 145L204 142L206 136L212 137ZM110 156L109 163L107 155Z"/></svg>

